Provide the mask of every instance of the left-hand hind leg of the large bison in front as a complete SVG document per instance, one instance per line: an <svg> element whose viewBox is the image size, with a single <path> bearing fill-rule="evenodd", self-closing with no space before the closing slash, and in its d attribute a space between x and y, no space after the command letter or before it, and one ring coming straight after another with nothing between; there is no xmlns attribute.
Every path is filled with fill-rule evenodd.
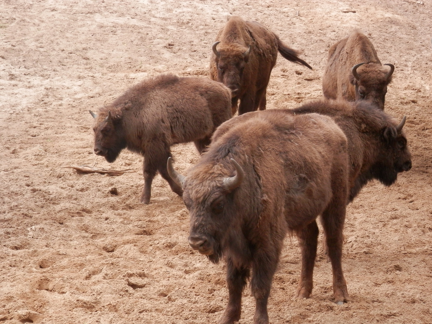
<svg viewBox="0 0 432 324"><path fill-rule="evenodd" d="M294 298L309 298L312 292L318 232L317 222L313 221L297 233L300 248L302 249L302 273L300 274L299 285L297 286Z"/></svg>

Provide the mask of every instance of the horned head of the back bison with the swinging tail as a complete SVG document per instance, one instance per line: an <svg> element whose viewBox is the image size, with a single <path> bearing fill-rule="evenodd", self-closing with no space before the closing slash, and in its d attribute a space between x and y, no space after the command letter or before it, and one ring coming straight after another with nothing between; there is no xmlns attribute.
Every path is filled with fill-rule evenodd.
<svg viewBox="0 0 432 324"><path fill-rule="evenodd" d="M219 43L220 41L216 41L212 48L213 53L216 55L217 81L227 86L231 90L232 98L235 98L240 95L240 89L243 84L243 72L248 63L252 48L249 45L246 51L234 48L218 51L216 47Z"/></svg>

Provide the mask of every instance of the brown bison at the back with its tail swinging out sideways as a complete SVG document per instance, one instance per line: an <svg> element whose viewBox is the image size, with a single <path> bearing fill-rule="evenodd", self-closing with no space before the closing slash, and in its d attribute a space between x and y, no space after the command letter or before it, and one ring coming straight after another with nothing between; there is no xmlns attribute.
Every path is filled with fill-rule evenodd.
<svg viewBox="0 0 432 324"><path fill-rule="evenodd" d="M210 58L210 78L231 89L232 114L238 100L239 115L266 108L266 90L277 51L287 60L311 69L298 57L299 52L259 22L232 16L219 31Z"/></svg>

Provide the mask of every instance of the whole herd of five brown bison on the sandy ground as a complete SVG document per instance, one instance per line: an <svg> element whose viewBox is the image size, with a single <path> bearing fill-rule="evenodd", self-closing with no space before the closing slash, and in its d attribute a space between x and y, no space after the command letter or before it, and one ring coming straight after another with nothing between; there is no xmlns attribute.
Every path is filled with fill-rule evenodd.
<svg viewBox="0 0 432 324"><path fill-rule="evenodd" d="M368 181L390 186L411 168L406 118L384 112L394 66L384 64L386 70L372 43L354 30L329 49L326 99L265 111L277 52L311 68L299 53L260 23L235 16L212 51L211 79L162 74L90 111L94 152L108 162L124 148L143 155L140 202L150 202L156 172L183 197L189 244L213 263L226 262L229 299L218 323L240 319L249 277L254 323L268 323L267 299L287 233L298 236L302 252L295 297L309 297L319 216L334 299L342 305L349 300L341 262L346 205ZM170 146L191 141L201 157L183 176L172 166Z"/></svg>

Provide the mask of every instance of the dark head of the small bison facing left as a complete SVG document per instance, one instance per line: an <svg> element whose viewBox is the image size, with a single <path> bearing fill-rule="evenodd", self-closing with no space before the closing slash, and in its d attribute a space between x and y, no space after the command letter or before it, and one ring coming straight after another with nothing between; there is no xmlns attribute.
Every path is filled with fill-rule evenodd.
<svg viewBox="0 0 432 324"><path fill-rule="evenodd" d="M93 131L95 132L95 148L94 152L96 155L105 156L108 162L114 162L120 151L126 147L126 141L123 136L121 126L121 116L101 113L95 114L90 110L93 118L95 118L95 124Z"/></svg>

